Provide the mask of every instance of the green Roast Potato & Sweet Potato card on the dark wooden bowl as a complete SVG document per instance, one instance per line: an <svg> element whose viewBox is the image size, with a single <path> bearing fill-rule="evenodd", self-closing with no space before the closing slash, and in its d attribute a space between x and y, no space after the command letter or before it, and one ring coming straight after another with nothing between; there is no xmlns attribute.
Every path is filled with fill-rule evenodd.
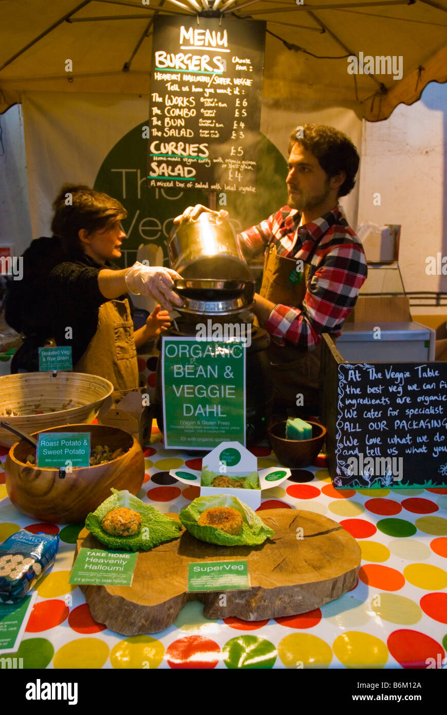
<svg viewBox="0 0 447 715"><path fill-rule="evenodd" d="M89 467L89 432L41 432L37 441L36 465L38 467L64 468Z"/></svg>

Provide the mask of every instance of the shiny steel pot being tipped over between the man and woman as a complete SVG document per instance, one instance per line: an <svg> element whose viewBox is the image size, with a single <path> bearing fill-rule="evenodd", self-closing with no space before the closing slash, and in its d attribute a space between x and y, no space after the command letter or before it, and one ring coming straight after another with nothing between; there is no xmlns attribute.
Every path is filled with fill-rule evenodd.
<svg viewBox="0 0 447 715"><path fill-rule="evenodd" d="M253 280L233 226L214 213L174 225L168 252L171 268L184 278Z"/></svg>

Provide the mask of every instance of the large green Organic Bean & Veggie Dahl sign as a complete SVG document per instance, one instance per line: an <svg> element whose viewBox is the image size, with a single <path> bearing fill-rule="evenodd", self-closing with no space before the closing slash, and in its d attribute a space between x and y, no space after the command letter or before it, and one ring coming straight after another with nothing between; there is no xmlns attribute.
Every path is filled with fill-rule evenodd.
<svg viewBox="0 0 447 715"><path fill-rule="evenodd" d="M245 445L245 352L242 342L162 337L166 448Z"/></svg>

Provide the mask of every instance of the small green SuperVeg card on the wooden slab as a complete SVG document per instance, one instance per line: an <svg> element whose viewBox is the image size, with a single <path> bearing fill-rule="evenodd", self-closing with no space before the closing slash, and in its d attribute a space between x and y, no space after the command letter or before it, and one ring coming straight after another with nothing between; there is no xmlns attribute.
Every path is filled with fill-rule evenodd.
<svg viewBox="0 0 447 715"><path fill-rule="evenodd" d="M188 591L246 591L246 561L199 561L188 567Z"/></svg>

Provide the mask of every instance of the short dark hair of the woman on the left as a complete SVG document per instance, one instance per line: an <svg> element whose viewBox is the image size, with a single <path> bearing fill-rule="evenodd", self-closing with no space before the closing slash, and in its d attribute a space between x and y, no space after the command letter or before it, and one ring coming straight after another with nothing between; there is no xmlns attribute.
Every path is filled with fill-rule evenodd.
<svg viewBox="0 0 447 715"><path fill-rule="evenodd" d="M53 202L51 231L61 239L67 254L83 252L79 231L101 231L116 218L126 218L124 206L101 191L83 184L64 184Z"/></svg>

